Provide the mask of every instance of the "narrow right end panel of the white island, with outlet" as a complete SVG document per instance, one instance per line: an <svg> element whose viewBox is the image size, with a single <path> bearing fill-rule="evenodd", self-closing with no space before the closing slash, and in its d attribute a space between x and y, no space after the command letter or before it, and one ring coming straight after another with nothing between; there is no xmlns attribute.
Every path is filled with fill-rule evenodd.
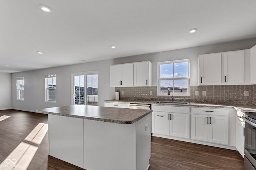
<svg viewBox="0 0 256 170"><path fill-rule="evenodd" d="M151 156L150 126L150 114L136 121L137 170L146 170L149 167Z"/></svg>

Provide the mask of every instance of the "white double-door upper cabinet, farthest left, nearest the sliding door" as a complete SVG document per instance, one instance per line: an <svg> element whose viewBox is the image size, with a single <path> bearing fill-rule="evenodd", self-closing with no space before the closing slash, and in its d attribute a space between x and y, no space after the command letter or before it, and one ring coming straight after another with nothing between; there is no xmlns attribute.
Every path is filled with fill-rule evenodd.
<svg viewBox="0 0 256 170"><path fill-rule="evenodd" d="M110 87L133 86L133 63L110 66Z"/></svg>

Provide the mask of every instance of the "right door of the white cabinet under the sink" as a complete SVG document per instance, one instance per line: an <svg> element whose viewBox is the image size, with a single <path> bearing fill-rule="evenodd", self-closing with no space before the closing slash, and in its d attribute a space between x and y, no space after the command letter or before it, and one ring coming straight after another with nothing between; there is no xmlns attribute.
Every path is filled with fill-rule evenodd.
<svg viewBox="0 0 256 170"><path fill-rule="evenodd" d="M170 136L190 137L190 114L170 113Z"/></svg>

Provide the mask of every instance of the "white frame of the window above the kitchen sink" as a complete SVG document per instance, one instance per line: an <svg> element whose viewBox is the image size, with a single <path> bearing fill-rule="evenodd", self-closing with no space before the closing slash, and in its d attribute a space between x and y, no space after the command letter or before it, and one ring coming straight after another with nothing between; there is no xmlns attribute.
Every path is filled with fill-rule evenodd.
<svg viewBox="0 0 256 170"><path fill-rule="evenodd" d="M188 62L188 77L160 78L160 65L161 64L174 64L174 63L184 63L184 62ZM173 74L174 74L174 72L173 72ZM176 60L176 61L164 61L164 62L157 63L157 95L158 96L168 96L167 94L160 94L160 88L161 88L160 81L161 80L188 80L188 93L187 94L170 93L170 96L190 96L190 59Z"/></svg>

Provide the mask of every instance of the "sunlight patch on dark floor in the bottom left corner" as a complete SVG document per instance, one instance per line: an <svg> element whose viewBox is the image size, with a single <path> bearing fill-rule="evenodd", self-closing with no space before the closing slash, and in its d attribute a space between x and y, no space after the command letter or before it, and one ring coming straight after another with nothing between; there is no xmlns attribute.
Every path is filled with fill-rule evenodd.
<svg viewBox="0 0 256 170"><path fill-rule="evenodd" d="M0 164L0 170L26 170L38 147L20 143Z"/></svg>

